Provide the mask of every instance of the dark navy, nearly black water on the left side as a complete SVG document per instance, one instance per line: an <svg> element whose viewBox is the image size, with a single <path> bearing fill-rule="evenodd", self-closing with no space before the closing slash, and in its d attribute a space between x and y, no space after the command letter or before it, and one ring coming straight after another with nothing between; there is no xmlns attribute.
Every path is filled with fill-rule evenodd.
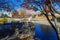
<svg viewBox="0 0 60 40"><path fill-rule="evenodd" d="M2 38L3 36L11 36L14 34L15 32L15 25L17 25L18 28L21 28L23 26L24 23L5 23L3 25L0 25L0 38ZM13 27L14 25L14 27Z"/></svg>

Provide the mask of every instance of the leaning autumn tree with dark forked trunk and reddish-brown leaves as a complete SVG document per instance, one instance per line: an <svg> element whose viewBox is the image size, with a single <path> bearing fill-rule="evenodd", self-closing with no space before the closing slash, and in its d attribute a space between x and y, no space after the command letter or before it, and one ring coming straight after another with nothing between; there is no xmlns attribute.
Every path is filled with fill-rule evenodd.
<svg viewBox="0 0 60 40"><path fill-rule="evenodd" d="M55 28L56 25L54 25L54 24L50 21L50 19L49 19L49 17L48 17L48 12L47 12L48 10L46 10L46 8L48 7L48 9L49 9L49 11L50 11L50 13L51 13L51 16L53 17L53 19L55 19L56 16L55 16L54 14L57 13L57 14L60 15L60 13L55 9L53 3L54 3L54 2L58 2L58 1L59 1L59 0L38 0L38 1L37 1L37 0L25 0L24 3L22 4L22 6L25 7L25 8L27 8L27 9L28 9L30 6L31 6L31 7L35 7L36 10L40 10L40 11L42 11L42 8L43 8L43 14L46 16L46 18L47 18L48 22L51 24L52 28L55 29L56 34L57 34L57 37L58 37L58 32L57 32L57 30L56 30L56 28ZM60 1L59 1L59 2L60 2ZM38 9L37 7L39 7L39 9ZM33 9L33 8L32 8L32 9ZM56 23L55 23L55 24L56 24ZM59 39L59 37L58 37L58 39Z"/></svg>

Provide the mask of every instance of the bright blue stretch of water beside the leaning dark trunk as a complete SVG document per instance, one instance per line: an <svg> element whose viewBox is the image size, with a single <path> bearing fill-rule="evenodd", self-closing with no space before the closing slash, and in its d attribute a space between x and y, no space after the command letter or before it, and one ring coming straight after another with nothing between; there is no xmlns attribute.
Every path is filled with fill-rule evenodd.
<svg viewBox="0 0 60 40"><path fill-rule="evenodd" d="M55 30L51 26L35 24L35 37L40 40L58 40Z"/></svg>

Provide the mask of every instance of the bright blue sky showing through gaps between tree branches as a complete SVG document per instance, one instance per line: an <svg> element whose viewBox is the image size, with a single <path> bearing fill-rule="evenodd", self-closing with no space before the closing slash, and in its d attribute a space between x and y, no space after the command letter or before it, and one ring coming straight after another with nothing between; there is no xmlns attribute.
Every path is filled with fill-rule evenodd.
<svg viewBox="0 0 60 40"><path fill-rule="evenodd" d="M4 1L4 0L0 0L0 2L1 1ZM8 0L5 0L5 1L8 1ZM23 2L24 2L24 0L9 0L10 2L8 2L8 5L11 7L11 9L15 9L15 10L17 10L17 9L19 9L19 8L21 8L21 6L20 6L20 4L22 4ZM38 0L39 1L39 0ZM1 5L1 4L0 4ZM55 2L54 3L54 6L55 6L55 8L57 9L57 10L60 10L60 6L58 6L58 3L57 2ZM39 9L39 7L38 6L36 6L38 9Z"/></svg>

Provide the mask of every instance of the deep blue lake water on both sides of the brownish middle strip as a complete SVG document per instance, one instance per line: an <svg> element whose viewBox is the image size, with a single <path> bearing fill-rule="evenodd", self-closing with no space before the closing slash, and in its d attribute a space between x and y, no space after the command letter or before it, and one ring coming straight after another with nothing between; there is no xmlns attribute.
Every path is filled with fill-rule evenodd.
<svg viewBox="0 0 60 40"><path fill-rule="evenodd" d="M17 27L21 30L25 23L5 23L0 25L0 39L7 36L14 34L14 27L12 25L17 25ZM35 36L34 38L38 38L40 40L58 40L55 30L51 26L45 26L41 24L34 24L35 27Z"/></svg>

